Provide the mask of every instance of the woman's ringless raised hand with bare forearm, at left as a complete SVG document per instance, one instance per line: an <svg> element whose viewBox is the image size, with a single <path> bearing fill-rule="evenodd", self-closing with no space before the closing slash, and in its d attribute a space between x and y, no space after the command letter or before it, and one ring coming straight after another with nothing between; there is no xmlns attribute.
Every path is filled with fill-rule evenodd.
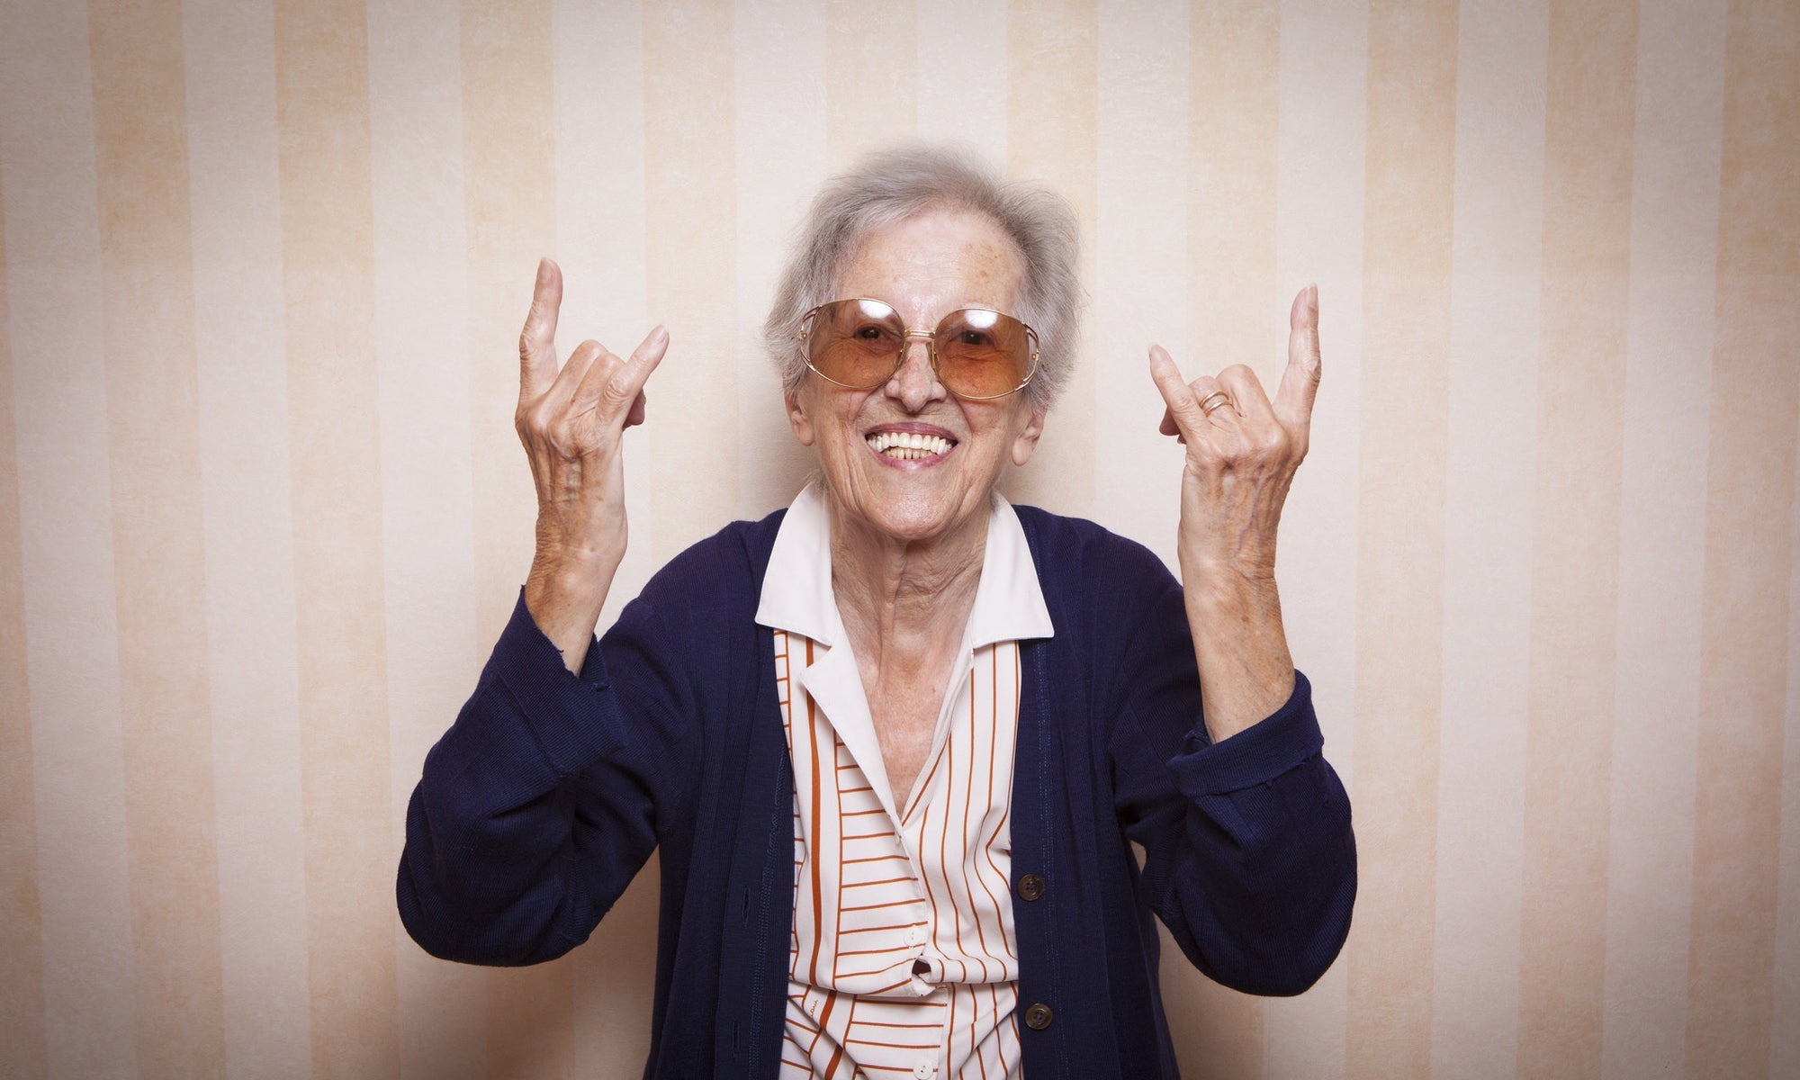
<svg viewBox="0 0 1800 1080"><path fill-rule="evenodd" d="M585 340L556 364L562 270L538 263L518 335L518 439L538 490L536 554L526 578L531 617L581 670L587 643L625 558L625 428L644 421L644 382L670 335L657 326L628 360Z"/></svg>

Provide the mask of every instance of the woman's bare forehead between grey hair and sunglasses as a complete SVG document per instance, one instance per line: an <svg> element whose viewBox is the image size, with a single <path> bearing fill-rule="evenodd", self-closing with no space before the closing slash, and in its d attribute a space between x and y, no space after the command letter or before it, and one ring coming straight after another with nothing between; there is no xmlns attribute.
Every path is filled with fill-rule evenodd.
<svg viewBox="0 0 1800 1080"><path fill-rule="evenodd" d="M869 232L839 295L887 301L923 322L968 304L1013 311L1022 281L1019 247L986 214L932 211Z"/></svg>

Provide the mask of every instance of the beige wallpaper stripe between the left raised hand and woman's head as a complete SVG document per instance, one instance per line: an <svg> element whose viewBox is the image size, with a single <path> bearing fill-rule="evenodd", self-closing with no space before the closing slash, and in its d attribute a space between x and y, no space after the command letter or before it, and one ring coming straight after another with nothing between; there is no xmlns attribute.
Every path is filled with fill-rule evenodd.
<svg viewBox="0 0 1800 1080"><path fill-rule="evenodd" d="M695 56L707 63L691 63ZM664 401L679 403L652 410L648 423L659 499L650 553L657 565L716 531L738 502L731 56L729 7L644 4L646 302L650 317L670 328L655 387ZM697 428L691 416L707 423Z"/></svg>

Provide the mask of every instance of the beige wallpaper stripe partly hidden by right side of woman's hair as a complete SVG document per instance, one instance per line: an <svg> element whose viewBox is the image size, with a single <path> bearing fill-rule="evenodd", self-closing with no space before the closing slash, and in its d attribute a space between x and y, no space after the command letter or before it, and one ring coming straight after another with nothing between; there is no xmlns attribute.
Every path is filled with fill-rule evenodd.
<svg viewBox="0 0 1800 1080"><path fill-rule="evenodd" d="M1094 0L1006 5L1006 173L1057 191L1082 225L1082 284L1094 290L1098 13ZM1087 517L1094 502L1093 333L1075 342L1075 371L1031 463L1006 477L1015 502ZM1109 373L1111 374L1111 373Z"/></svg>

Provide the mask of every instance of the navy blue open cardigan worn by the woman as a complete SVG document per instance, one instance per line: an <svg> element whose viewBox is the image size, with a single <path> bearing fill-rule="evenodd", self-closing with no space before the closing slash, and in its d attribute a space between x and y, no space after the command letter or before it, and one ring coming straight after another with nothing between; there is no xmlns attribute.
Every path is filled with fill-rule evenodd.
<svg viewBox="0 0 1800 1080"><path fill-rule="evenodd" d="M580 677L520 601L407 812L400 914L446 959L562 956L661 853L646 1076L779 1067L794 778L754 623L779 520L670 562ZM1019 520L1057 628L1019 650L1012 868L1042 878L1035 898L1013 893L1019 1008L1049 1006L1042 1030L1019 1026L1024 1071L1175 1076L1150 914L1213 979L1300 994L1350 929L1350 805L1305 677L1273 716L1208 745L1163 563L1091 522Z"/></svg>

